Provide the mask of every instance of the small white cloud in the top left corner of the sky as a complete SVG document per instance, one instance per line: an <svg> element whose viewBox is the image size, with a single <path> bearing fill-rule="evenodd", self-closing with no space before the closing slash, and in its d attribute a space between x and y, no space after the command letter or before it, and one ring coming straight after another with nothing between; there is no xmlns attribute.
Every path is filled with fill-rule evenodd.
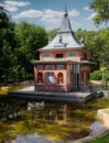
<svg viewBox="0 0 109 143"><path fill-rule="evenodd" d="M8 1L4 1L4 8L6 10L10 11L10 12L13 12L13 11L18 11L18 8L19 7L25 7L25 6L30 6L31 3L30 2L23 2L23 1L11 1L11 0L8 0Z"/></svg>

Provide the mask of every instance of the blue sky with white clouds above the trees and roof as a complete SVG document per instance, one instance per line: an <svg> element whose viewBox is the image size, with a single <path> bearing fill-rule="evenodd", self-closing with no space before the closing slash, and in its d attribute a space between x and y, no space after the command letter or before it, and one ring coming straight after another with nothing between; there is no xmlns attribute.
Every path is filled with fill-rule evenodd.
<svg viewBox="0 0 109 143"><path fill-rule="evenodd" d="M72 29L98 30L92 18L96 12L89 9L92 0L6 0L4 8L17 23L26 21L46 30L58 29L67 8ZM99 26L99 29L102 26Z"/></svg>

